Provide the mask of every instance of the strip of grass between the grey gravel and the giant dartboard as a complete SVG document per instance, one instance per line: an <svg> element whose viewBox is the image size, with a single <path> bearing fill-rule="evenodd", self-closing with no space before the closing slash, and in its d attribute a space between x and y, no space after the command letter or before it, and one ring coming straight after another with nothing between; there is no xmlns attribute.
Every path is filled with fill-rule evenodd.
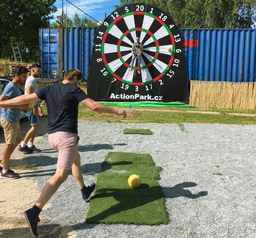
<svg viewBox="0 0 256 238"><path fill-rule="evenodd" d="M117 107L116 107L117 108ZM124 107L122 107L124 108ZM94 112L79 104L78 119L99 122L122 122L122 123L221 123L221 124L238 124L238 125L256 125L256 116L235 116L228 115L225 112L243 112L255 113L256 110L224 110L221 114L200 114L200 113L186 113L186 112L161 112L161 109L169 110L183 110L184 108L156 108L156 111L138 111L133 109L132 113L127 114L127 118L122 118L113 114ZM188 110L188 108L186 109ZM194 110L194 108L193 108ZM199 110L199 109L198 109ZM213 109L200 109L205 111L216 111ZM46 106L43 106L44 116L47 117Z"/></svg>

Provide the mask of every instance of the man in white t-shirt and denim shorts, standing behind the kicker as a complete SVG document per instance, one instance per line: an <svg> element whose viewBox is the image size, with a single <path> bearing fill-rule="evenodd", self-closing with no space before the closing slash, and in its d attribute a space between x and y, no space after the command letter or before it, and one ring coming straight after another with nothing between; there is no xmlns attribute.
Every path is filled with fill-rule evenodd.
<svg viewBox="0 0 256 238"><path fill-rule="evenodd" d="M39 64L33 64L30 67L30 76L27 78L25 83L25 94L32 94L38 91L37 80L41 73L41 66ZM29 122L31 124L31 129L26 134L23 142L19 146L18 150L31 154L32 152L40 152L41 149L38 149L34 145L35 135L39 128L39 116L43 115L43 110L40 107L39 102L35 102L35 105L32 109L29 109L26 112Z"/></svg>

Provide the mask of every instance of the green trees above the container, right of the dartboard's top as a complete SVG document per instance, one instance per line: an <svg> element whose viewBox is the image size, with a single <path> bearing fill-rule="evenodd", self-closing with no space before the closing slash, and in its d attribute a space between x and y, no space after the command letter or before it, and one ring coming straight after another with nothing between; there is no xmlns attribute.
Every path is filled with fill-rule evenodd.
<svg viewBox="0 0 256 238"><path fill-rule="evenodd" d="M147 3L133 0L132 4ZM120 0L115 9L130 4ZM256 0L149 0L172 17L179 28L255 28Z"/></svg>

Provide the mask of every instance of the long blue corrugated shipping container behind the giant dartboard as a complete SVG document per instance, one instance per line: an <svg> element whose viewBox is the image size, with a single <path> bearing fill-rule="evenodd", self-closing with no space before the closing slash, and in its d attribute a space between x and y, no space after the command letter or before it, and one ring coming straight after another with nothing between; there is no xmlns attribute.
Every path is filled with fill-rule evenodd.
<svg viewBox="0 0 256 238"><path fill-rule="evenodd" d="M63 28L63 73L78 68L87 80L96 31L97 28L87 27ZM43 78L59 75L57 32L58 29L40 30ZM256 82L256 29L181 29L181 32L189 81ZM51 34L56 38L51 39L54 36Z"/></svg>

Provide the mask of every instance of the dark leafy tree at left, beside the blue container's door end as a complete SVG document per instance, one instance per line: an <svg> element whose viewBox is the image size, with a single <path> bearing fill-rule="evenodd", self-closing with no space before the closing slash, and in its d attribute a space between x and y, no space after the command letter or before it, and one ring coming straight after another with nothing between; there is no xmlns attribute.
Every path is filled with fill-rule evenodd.
<svg viewBox="0 0 256 238"><path fill-rule="evenodd" d="M0 57L9 45L19 45L21 52L38 53L39 28L49 27L56 0L0 1Z"/></svg>

